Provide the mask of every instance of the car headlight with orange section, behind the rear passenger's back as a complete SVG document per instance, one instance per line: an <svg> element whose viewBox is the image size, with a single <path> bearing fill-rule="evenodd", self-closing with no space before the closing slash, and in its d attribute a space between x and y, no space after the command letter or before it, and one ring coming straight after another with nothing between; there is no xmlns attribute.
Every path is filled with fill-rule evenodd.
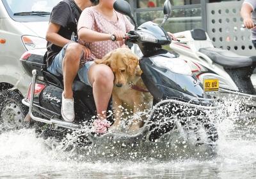
<svg viewBox="0 0 256 179"><path fill-rule="evenodd" d="M22 36L21 39L27 50L46 48L47 45L47 41L44 38L36 36Z"/></svg>

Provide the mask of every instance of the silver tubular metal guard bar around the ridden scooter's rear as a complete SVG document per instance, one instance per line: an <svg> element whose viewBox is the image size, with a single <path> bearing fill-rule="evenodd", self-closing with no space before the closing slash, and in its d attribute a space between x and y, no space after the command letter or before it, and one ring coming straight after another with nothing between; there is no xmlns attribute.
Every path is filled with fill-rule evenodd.
<svg viewBox="0 0 256 179"><path fill-rule="evenodd" d="M48 119L44 119L44 118L40 118L40 117L35 117L35 115L33 115L32 111L33 111L34 94L35 94L35 83L36 83L36 76L37 76L36 69L33 69L32 75L33 76L32 76L32 84L31 84L31 100L30 100L30 103L29 103L29 115L30 115L30 117L33 120L36 120L38 122L43 122L43 123L46 123L46 124L56 125L58 127L65 127L67 129L73 129L73 130L81 129L81 125L74 124L72 122L65 122L64 120L60 120L59 118L51 118L51 120L48 120ZM23 100L22 102L28 104L28 101ZM42 108L42 107L40 107L40 108Z"/></svg>

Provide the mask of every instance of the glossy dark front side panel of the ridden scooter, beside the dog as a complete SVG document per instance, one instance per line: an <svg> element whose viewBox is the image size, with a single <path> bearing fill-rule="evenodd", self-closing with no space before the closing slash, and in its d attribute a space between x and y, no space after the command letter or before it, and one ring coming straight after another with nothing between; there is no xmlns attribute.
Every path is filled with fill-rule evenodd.
<svg viewBox="0 0 256 179"><path fill-rule="evenodd" d="M154 66L150 58L140 60L143 71L141 78L157 101L161 99L179 98L186 101L195 97L203 97L202 84L195 76L173 73L164 68Z"/></svg>

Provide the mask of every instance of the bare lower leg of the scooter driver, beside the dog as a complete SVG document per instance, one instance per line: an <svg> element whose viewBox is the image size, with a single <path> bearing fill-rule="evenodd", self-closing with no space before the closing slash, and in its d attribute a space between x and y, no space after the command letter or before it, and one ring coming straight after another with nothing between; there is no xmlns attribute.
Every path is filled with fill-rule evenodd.
<svg viewBox="0 0 256 179"><path fill-rule="evenodd" d="M106 110L113 90L113 71L105 64L93 64L88 71L88 77L93 86L97 114L106 118Z"/></svg>

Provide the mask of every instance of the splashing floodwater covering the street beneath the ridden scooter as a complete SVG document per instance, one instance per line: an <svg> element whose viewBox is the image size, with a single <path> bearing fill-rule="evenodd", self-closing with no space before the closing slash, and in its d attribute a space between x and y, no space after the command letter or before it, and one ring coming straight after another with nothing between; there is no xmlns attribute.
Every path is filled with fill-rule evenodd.
<svg viewBox="0 0 256 179"><path fill-rule="evenodd" d="M256 178L256 122L239 117L236 103L223 106L212 156L188 151L179 157L176 150L178 157L167 160L120 155L118 161L104 153L94 159L88 148L64 150L54 140L36 138L34 129L20 129L0 134L0 178Z"/></svg>

